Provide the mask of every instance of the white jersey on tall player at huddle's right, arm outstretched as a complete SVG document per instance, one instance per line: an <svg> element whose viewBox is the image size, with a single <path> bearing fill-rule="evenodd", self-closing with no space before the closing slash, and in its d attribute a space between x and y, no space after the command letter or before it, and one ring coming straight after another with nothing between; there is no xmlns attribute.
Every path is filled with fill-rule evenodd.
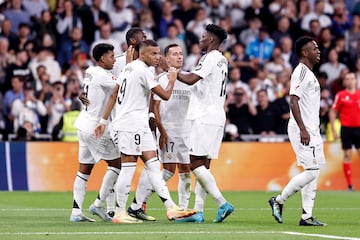
<svg viewBox="0 0 360 240"><path fill-rule="evenodd" d="M224 126L228 61L218 50L205 54L192 73L202 79L192 88L187 118Z"/></svg>

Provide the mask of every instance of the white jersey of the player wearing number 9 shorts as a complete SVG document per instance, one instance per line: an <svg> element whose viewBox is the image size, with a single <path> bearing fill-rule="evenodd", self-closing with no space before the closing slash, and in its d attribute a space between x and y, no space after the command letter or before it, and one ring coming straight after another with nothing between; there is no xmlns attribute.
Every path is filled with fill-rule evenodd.
<svg viewBox="0 0 360 240"><path fill-rule="evenodd" d="M152 68L137 59L125 66L117 81L120 88L113 130L150 131L148 116L151 89L159 85L154 80Z"/></svg>

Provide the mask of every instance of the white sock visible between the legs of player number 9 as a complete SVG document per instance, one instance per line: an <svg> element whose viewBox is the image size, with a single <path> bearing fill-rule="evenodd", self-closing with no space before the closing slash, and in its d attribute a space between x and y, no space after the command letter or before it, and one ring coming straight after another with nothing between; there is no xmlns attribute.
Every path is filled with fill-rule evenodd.
<svg viewBox="0 0 360 240"><path fill-rule="evenodd" d="M139 183L135 192L135 197L130 207L133 210L140 209L142 203L147 202L153 193L153 187L148 178L147 171L144 169L140 175Z"/></svg>

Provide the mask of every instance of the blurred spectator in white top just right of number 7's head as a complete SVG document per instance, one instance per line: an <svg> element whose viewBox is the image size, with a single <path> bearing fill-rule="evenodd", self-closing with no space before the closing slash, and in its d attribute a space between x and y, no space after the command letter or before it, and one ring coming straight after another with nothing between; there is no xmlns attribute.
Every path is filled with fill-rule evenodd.
<svg viewBox="0 0 360 240"><path fill-rule="evenodd" d="M328 52L328 62L321 64L320 71L326 72L328 75L328 84L331 84L336 78L340 76L340 72L346 68L346 65L339 62L339 56L335 48L332 48Z"/></svg>

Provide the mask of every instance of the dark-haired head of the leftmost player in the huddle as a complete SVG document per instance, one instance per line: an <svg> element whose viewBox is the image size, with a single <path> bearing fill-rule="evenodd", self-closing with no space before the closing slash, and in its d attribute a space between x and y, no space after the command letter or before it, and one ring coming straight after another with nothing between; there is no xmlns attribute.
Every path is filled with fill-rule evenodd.
<svg viewBox="0 0 360 240"><path fill-rule="evenodd" d="M115 63L114 46L107 43L99 43L93 49L93 58L99 66L112 69Z"/></svg>

